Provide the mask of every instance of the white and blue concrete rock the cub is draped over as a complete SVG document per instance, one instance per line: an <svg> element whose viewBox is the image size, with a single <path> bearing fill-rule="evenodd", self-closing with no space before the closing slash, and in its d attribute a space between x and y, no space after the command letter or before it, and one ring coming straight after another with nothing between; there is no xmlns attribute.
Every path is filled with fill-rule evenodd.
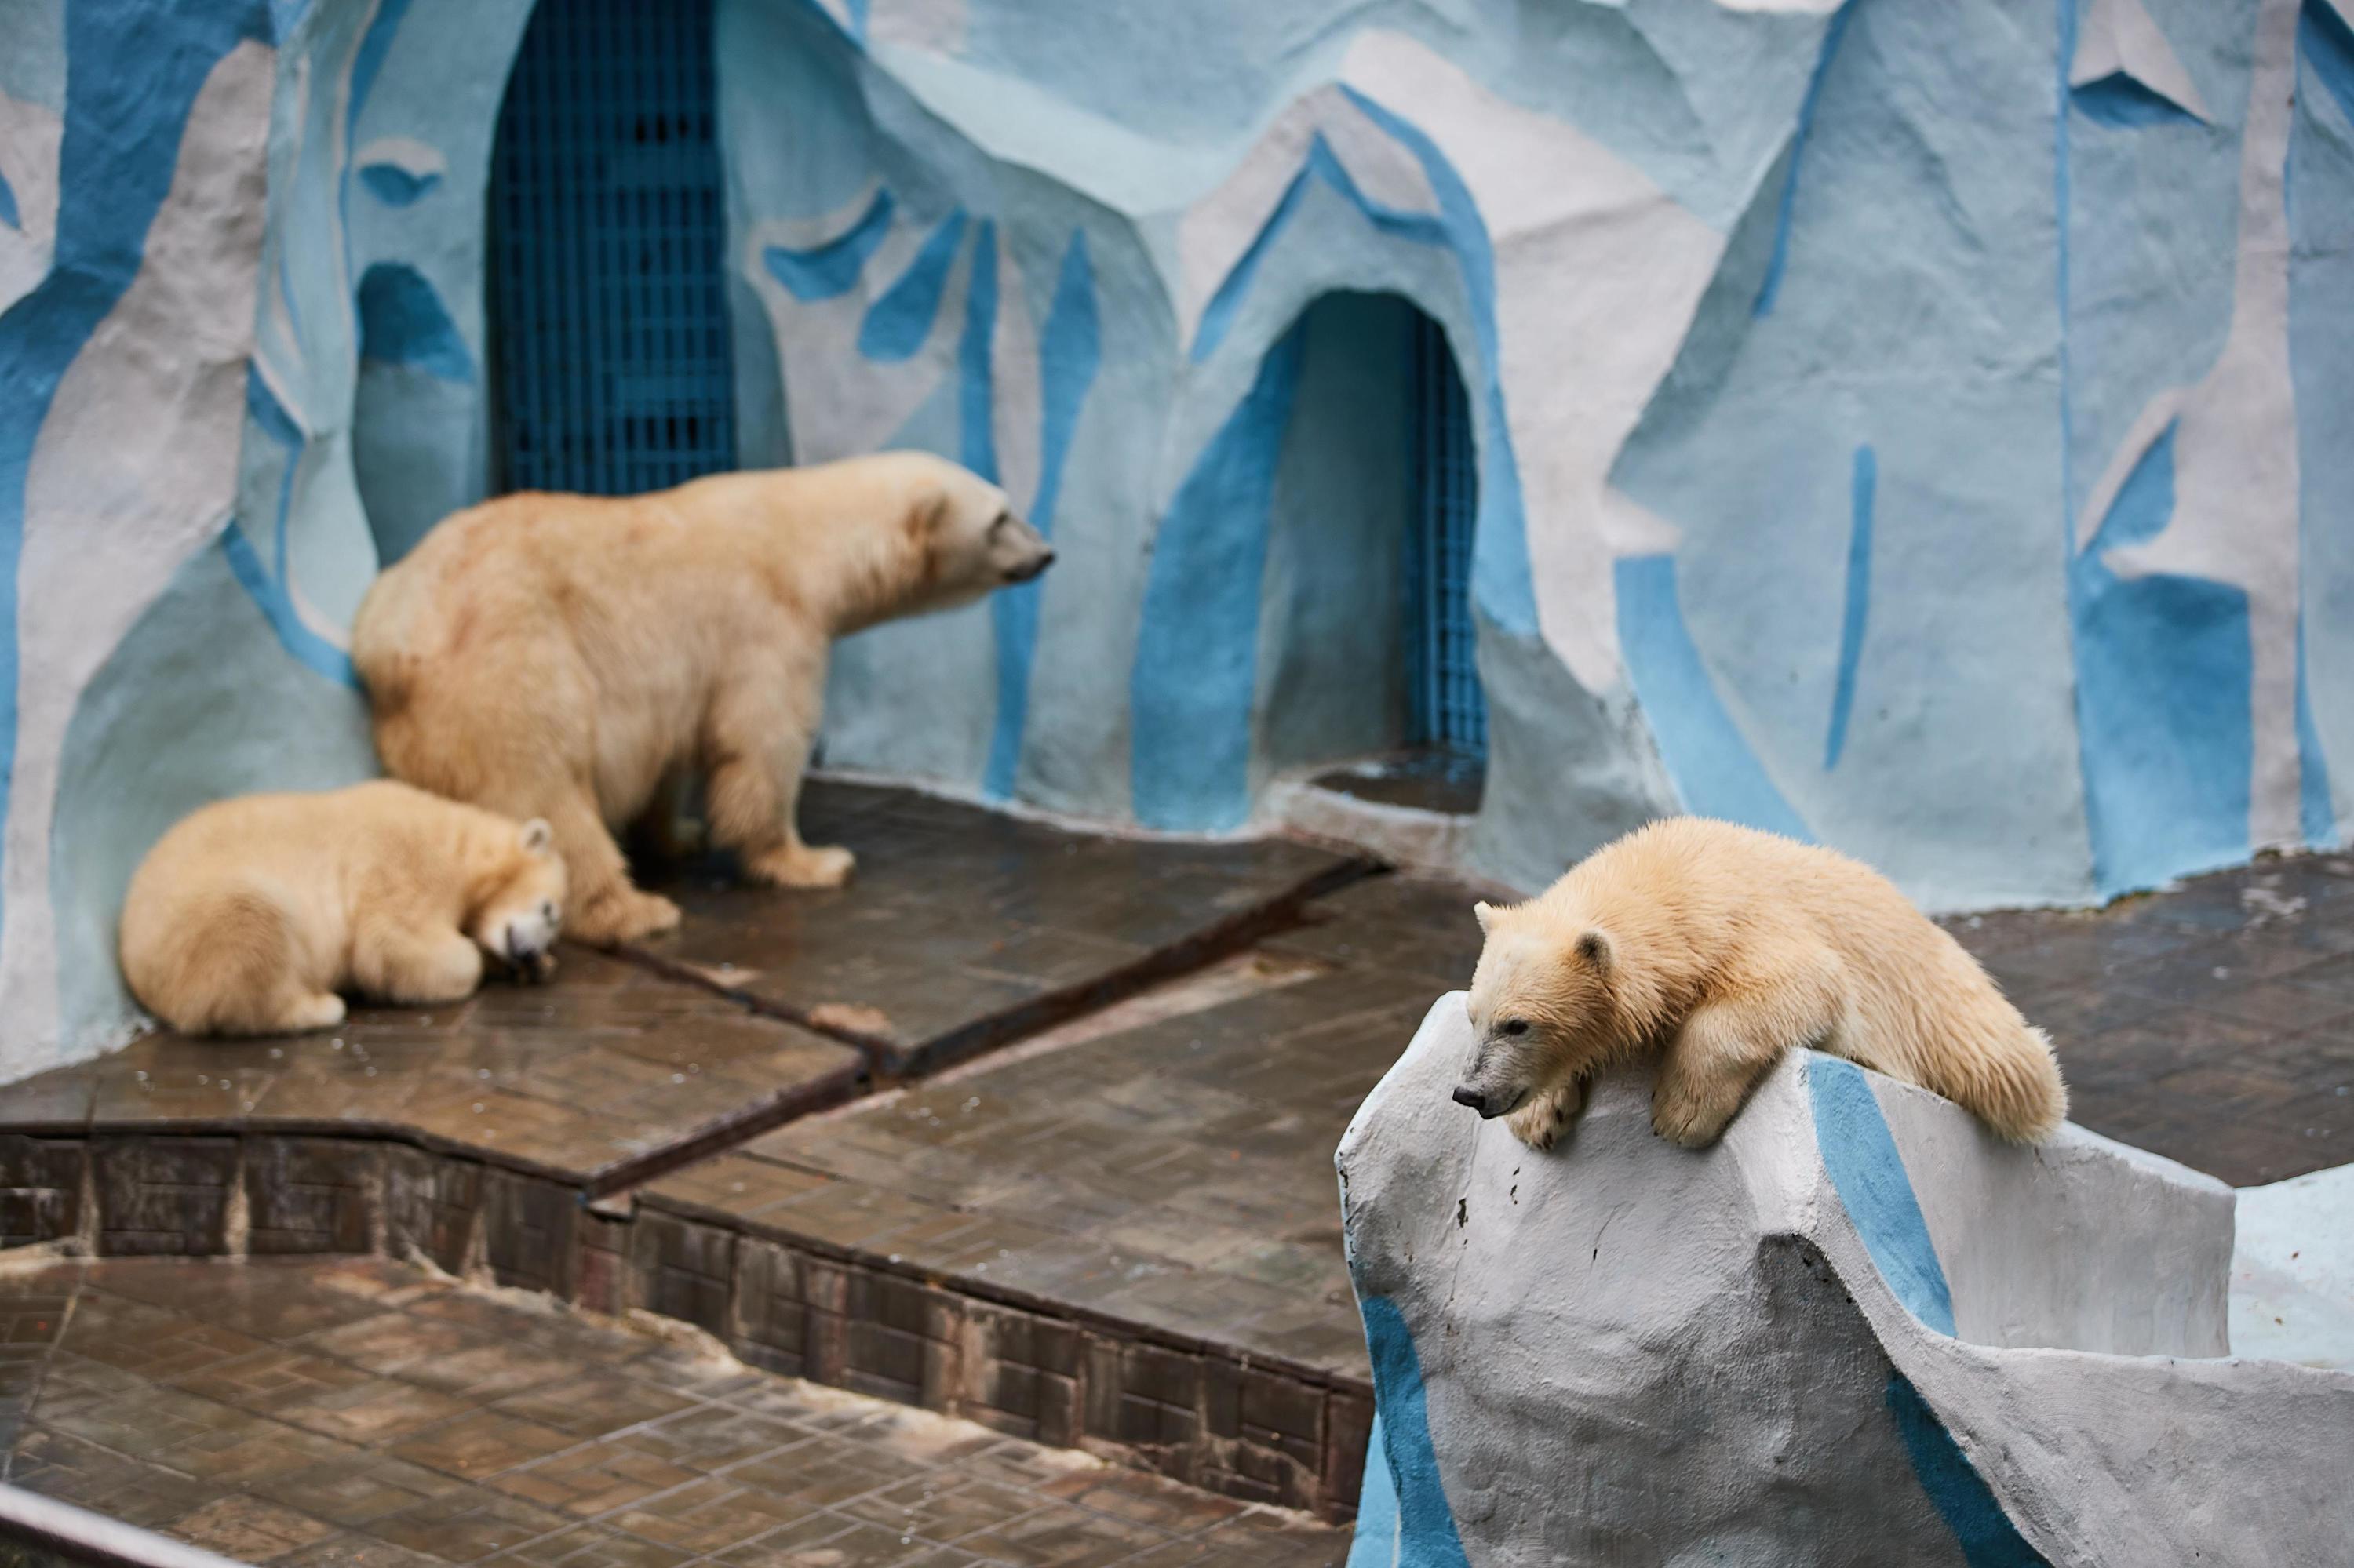
<svg viewBox="0 0 2354 1568"><path fill-rule="evenodd" d="M2342 1561L2354 1375L2229 1356L2227 1187L1815 1052L1709 1151L1629 1076L1540 1156L1469 1048L1441 998L1337 1156L1351 1568Z"/></svg>

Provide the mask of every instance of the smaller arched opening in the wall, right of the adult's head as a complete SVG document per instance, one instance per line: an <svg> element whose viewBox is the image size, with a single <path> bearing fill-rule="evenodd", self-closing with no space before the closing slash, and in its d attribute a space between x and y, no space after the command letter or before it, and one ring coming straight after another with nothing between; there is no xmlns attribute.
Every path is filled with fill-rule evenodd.
<svg viewBox="0 0 2354 1568"><path fill-rule="evenodd" d="M1259 746L1339 803L1467 817L1488 709L1471 619L1478 469L1445 330L1396 294L1325 294L1297 356L1269 534Z"/></svg>

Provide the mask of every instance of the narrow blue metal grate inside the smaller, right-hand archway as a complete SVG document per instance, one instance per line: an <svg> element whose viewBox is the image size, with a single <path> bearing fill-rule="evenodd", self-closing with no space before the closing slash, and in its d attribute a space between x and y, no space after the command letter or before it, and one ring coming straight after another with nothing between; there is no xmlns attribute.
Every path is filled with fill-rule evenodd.
<svg viewBox="0 0 2354 1568"><path fill-rule="evenodd" d="M1471 631L1471 520L1478 469L1471 405L1448 334L1415 315L1415 532L1405 556L1408 735L1415 746L1488 756L1488 699Z"/></svg>

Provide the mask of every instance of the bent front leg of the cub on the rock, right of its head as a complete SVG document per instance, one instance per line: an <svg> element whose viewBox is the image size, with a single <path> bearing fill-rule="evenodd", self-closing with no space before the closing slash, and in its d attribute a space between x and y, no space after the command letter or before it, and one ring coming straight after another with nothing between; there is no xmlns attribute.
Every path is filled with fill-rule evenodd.
<svg viewBox="0 0 2354 1568"><path fill-rule="evenodd" d="M1768 979L1737 982L1693 1008L1660 1059L1650 1130L1702 1149L1714 1144L1782 1052L1829 1038L1848 1001L1838 961L1824 956Z"/></svg>

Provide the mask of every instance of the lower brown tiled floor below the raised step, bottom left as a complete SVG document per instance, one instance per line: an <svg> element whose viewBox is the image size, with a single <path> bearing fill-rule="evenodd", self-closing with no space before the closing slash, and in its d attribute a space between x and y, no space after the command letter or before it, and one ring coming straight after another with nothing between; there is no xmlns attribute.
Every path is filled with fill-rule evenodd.
<svg viewBox="0 0 2354 1568"><path fill-rule="evenodd" d="M301 1568L1314 1568L1346 1530L384 1262L0 1274L7 1481Z"/></svg>

